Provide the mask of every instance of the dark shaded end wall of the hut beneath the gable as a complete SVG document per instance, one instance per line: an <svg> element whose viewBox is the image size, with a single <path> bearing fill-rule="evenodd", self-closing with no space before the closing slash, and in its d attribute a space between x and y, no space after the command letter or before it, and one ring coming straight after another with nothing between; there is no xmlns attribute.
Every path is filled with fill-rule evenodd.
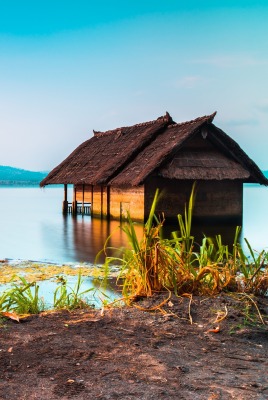
<svg viewBox="0 0 268 400"><path fill-rule="evenodd" d="M150 207L157 188L160 189L160 199L157 213L164 212L165 219L177 219L177 214L183 213L188 204L193 181L151 178L145 184L145 216ZM194 220L202 222L233 222L242 223L243 183L235 180L198 181L194 205Z"/></svg>

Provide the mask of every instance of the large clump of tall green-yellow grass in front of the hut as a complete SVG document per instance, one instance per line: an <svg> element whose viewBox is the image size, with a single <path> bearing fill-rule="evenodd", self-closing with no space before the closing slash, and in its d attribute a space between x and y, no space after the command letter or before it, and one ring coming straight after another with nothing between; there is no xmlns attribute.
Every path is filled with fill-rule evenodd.
<svg viewBox="0 0 268 400"><path fill-rule="evenodd" d="M179 233L174 232L171 239L161 236L164 217L155 215L158 196L157 190L142 239L138 240L135 223L128 215L128 224L121 229L130 248L124 249L121 257L106 257L106 266L120 263L118 282L122 282L127 302L160 291L177 295L212 295L222 290L267 292L267 253L257 254L245 239L251 256L247 257L239 243L240 227L235 230L232 251L223 244L221 235L214 240L204 236L200 246L195 243L191 234L195 185L184 215L178 215Z"/></svg>

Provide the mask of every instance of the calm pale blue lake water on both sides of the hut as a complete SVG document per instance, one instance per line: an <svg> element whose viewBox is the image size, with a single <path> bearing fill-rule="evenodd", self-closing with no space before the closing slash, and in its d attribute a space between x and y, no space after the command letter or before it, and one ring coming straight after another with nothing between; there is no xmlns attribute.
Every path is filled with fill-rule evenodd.
<svg viewBox="0 0 268 400"><path fill-rule="evenodd" d="M118 221L107 223L90 216L63 217L62 199L63 189L59 187L0 188L0 258L56 263L94 262L112 232L110 246L127 244L118 228ZM267 204L268 188L244 187L242 236L256 250L268 247ZM139 227L140 232L141 229ZM202 231L205 230L203 227ZM230 238L234 228L213 227L214 232Z"/></svg>

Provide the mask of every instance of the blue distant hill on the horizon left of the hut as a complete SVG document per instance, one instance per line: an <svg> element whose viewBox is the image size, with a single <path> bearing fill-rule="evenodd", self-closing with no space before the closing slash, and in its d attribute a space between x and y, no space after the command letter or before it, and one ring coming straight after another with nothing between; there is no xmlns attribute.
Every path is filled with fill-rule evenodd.
<svg viewBox="0 0 268 400"><path fill-rule="evenodd" d="M47 174L0 165L0 185L39 185Z"/></svg>

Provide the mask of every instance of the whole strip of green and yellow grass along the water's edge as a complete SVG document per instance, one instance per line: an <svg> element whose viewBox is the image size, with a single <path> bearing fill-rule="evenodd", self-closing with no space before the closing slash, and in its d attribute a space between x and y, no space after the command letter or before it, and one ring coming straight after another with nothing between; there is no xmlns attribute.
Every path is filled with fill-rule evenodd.
<svg viewBox="0 0 268 400"><path fill-rule="evenodd" d="M66 279L58 276L59 282L53 296L54 309L87 307L86 294L94 288L81 290L82 276L95 275L97 279L102 278L105 284L106 278L114 274L115 264L118 266L117 283L127 304L160 293L167 293L166 299L169 293L176 296L212 296L221 292L239 293L245 297L267 295L267 251L254 251L245 238L249 256L245 254L239 242L240 227L234 232L231 248L223 243L221 235L215 238L204 236L201 244L196 243L191 233L195 186L184 215L178 215L178 231L173 232L170 239L163 238L164 217L155 215L158 196L157 191L141 239L138 239L135 223L128 216L127 223L121 229L128 237L129 248L113 249L118 251L119 256L107 256L101 270L80 269L75 287L68 287ZM106 254L107 250L105 246L102 251ZM44 310L37 280L51 278L51 269L57 277L56 266L39 270L36 280L31 274L28 274L28 279L13 276L11 288L0 296L0 313L10 317L14 313L39 313ZM60 275L63 271L58 269L57 272ZM77 274L77 271L72 269L72 274Z"/></svg>

